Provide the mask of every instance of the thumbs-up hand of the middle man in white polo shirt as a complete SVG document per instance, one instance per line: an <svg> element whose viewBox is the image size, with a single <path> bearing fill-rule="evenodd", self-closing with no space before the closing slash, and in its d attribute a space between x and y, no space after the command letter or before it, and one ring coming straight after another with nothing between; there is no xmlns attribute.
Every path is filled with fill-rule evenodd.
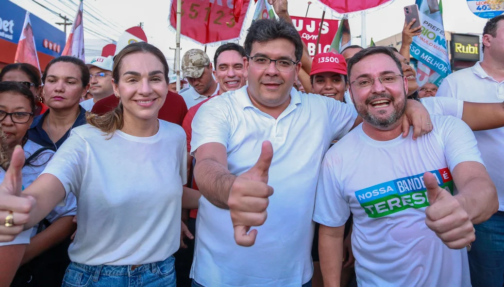
<svg viewBox="0 0 504 287"><path fill-rule="evenodd" d="M227 205L233 222L234 240L238 245L253 246L257 230L248 232L250 227L263 225L268 217L268 198L273 194L273 187L268 185L272 159L273 146L271 142L264 141L259 160L248 171L236 177L231 185Z"/></svg>

